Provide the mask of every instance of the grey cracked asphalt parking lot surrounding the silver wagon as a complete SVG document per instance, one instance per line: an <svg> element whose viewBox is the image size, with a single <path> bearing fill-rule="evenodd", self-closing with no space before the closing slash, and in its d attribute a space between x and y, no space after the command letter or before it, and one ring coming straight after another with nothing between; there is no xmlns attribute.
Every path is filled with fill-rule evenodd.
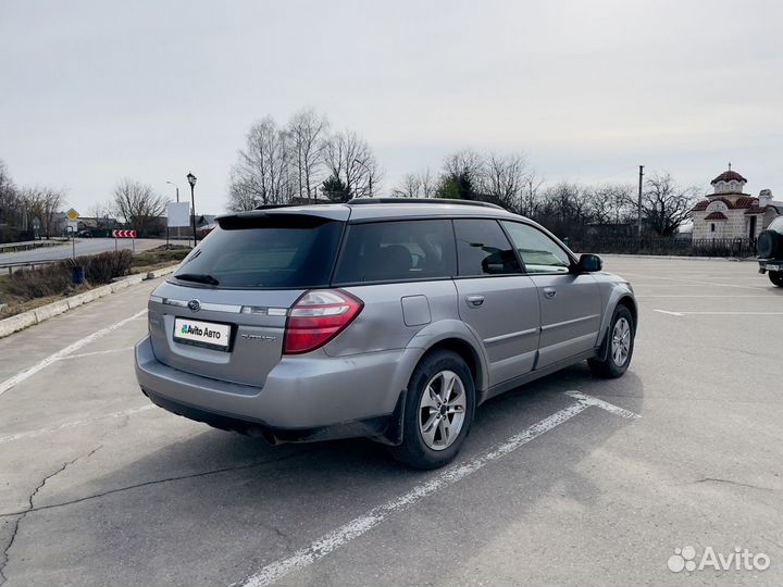
<svg viewBox="0 0 783 587"><path fill-rule="evenodd" d="M641 304L626 375L494 399L427 473L152 407L152 282L0 340L0 584L781 585L783 289L749 262L605 267ZM670 571L685 547L769 565Z"/></svg>

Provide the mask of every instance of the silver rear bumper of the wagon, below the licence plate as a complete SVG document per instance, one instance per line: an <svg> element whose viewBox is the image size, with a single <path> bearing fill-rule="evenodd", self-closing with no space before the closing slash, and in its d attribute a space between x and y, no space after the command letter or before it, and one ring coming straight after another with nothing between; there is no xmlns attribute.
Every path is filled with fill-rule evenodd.
<svg viewBox="0 0 783 587"><path fill-rule="evenodd" d="M400 394L405 351L347 358L286 357L263 388L201 377L158 361L149 337L136 345L136 378L152 402L170 412L281 441L378 436Z"/></svg>

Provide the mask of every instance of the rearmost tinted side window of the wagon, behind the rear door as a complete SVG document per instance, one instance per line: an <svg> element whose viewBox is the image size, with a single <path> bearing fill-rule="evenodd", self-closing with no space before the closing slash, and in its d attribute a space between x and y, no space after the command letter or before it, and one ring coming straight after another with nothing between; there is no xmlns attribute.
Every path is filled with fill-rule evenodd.
<svg viewBox="0 0 783 587"><path fill-rule="evenodd" d="M353 224L348 227L335 284L437 279L457 273L448 220Z"/></svg>

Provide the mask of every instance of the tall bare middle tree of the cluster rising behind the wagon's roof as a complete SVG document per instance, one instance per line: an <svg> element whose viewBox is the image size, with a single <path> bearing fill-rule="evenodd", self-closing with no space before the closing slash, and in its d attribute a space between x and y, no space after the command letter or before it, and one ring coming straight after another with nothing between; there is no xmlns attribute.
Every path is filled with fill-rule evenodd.
<svg viewBox="0 0 783 587"><path fill-rule="evenodd" d="M323 138L327 132L328 121L313 110L302 110L288 122L288 147L300 198L316 198L316 186L323 180Z"/></svg>

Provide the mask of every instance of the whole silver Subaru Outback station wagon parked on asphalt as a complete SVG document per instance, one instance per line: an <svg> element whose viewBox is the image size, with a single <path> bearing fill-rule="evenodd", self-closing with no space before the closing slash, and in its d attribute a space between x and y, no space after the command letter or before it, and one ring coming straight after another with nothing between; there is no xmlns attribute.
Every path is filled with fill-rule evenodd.
<svg viewBox="0 0 783 587"><path fill-rule="evenodd" d="M421 469L477 405L586 360L619 377L629 283L492 204L266 207L215 228L149 300L136 375L156 404L271 444L370 437Z"/></svg>

